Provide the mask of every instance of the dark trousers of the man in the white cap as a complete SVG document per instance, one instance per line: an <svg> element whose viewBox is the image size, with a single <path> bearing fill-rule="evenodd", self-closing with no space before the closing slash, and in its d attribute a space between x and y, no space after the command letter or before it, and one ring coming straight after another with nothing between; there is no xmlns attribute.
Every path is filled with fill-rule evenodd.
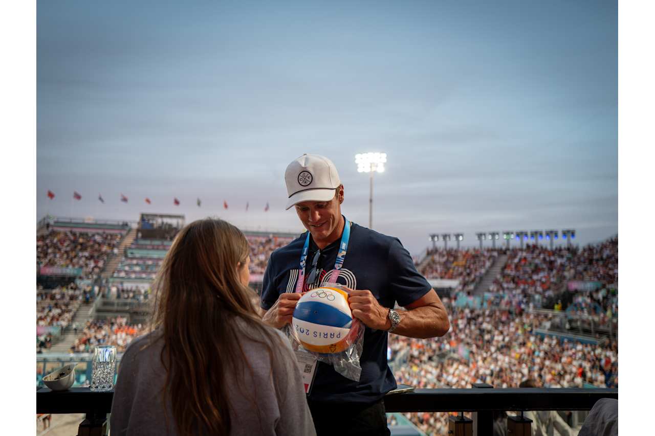
<svg viewBox="0 0 655 436"><path fill-rule="evenodd" d="M307 400L317 436L388 436L384 401L373 404Z"/></svg>

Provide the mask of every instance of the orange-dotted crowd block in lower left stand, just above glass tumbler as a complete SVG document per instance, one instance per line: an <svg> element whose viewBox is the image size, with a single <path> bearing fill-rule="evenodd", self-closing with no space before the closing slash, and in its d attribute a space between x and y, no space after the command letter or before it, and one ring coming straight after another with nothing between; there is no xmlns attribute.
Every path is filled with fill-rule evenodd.
<svg viewBox="0 0 655 436"><path fill-rule="evenodd" d="M120 316L88 321L71 346L71 353L90 353L98 345L114 345L117 352L124 352L134 338L143 334L145 327L141 324L130 325Z"/></svg>

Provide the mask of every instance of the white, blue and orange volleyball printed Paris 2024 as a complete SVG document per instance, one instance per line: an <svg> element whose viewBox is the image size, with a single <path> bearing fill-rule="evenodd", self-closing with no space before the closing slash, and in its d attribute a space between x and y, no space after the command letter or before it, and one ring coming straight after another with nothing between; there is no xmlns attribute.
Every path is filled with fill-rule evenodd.
<svg viewBox="0 0 655 436"><path fill-rule="evenodd" d="M317 353L339 353L356 338L348 294L335 287L305 293L293 311L293 329L303 347Z"/></svg>

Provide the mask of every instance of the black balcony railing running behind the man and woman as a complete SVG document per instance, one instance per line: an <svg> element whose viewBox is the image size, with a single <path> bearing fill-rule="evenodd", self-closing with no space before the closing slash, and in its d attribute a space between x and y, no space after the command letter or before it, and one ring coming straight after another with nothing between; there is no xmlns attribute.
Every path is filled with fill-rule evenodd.
<svg viewBox="0 0 655 436"><path fill-rule="evenodd" d="M618 399L618 389L493 389L487 384L476 384L472 389L390 393L384 399L384 407L386 412L476 412L473 425L477 436L492 436L494 411L591 410L601 398ZM112 399L112 391L71 388L54 392L41 388L37 390L37 413L86 413L78 435L92 434L91 429L97 431L105 426Z"/></svg>

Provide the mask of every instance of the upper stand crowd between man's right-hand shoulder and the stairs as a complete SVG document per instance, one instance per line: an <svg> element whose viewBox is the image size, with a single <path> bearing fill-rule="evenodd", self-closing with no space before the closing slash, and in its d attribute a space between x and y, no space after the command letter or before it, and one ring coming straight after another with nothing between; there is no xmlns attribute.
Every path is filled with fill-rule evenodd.
<svg viewBox="0 0 655 436"><path fill-rule="evenodd" d="M498 251L479 249L432 249L419 266L425 278L459 280L455 291L473 291L498 257Z"/></svg>

